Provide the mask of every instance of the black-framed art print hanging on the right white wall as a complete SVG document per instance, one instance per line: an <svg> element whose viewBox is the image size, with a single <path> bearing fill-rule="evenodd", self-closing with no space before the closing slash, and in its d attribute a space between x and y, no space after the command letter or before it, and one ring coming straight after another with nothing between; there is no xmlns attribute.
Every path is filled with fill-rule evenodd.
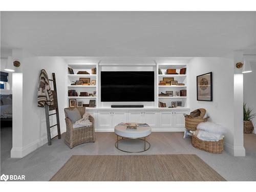
<svg viewBox="0 0 256 192"><path fill-rule="evenodd" d="M212 72L197 76L197 100L212 101Z"/></svg>

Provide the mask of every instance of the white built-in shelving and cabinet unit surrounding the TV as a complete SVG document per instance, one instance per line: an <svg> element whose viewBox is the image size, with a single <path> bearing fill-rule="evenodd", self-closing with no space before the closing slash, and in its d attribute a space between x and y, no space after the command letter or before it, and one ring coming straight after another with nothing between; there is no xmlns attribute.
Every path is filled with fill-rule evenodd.
<svg viewBox="0 0 256 192"><path fill-rule="evenodd" d="M77 61L78 60L78 61ZM90 100L96 100L95 108L87 108L87 112L90 113L95 119L95 131L97 132L113 132L116 124L120 122L144 122L148 123L152 127L152 131L184 131L184 113L189 113L189 106L187 103L188 96L180 97L176 96L175 92L186 89L189 86L187 74L165 74L167 69L176 69L177 73L181 68L187 67L187 59L165 60L159 61L146 61L146 62L120 62L113 60L110 62L102 62L101 58L92 59L76 59L71 58L67 61L68 67L74 70L75 74L69 74L67 69L67 95L68 90L76 90L78 96L67 96L67 106L69 105L69 99L76 99L82 101L83 104L88 104ZM162 58L161 58L162 60ZM96 74L91 74L91 69L96 68ZM163 74L158 74L158 69L161 69ZM151 102L101 102L100 97L100 73L101 71L154 71L155 72L155 99ZM78 71L87 71L90 74L76 74ZM160 80L164 77L174 77L178 83L184 83L184 86L159 86ZM71 86L72 81L79 80L79 78L90 78L96 80L95 86ZM80 97L80 92L93 93L96 91L94 97ZM159 96L161 92L173 91L174 95ZM187 93L189 94L189 93ZM159 108L158 102L166 103L166 108ZM182 106L177 108L168 108L171 106L172 101L182 101ZM144 108L111 108L111 104L143 104Z"/></svg>

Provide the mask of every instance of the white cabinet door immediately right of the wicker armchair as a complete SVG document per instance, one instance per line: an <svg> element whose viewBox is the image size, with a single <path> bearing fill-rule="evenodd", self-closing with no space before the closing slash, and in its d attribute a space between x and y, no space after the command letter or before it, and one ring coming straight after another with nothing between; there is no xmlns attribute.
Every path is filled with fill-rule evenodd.
<svg viewBox="0 0 256 192"><path fill-rule="evenodd" d="M112 113L111 111L98 111L97 129L112 128Z"/></svg>

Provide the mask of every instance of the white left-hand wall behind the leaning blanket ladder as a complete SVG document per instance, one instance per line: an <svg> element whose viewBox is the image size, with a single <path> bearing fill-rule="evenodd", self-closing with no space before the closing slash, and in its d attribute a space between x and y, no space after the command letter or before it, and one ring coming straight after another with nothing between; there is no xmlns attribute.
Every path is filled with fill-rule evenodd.
<svg viewBox="0 0 256 192"><path fill-rule="evenodd" d="M61 57L28 57L23 58L23 123L22 123L22 154L29 154L39 146L47 142L45 109L37 106L38 77L41 69L45 69L50 79L55 73L59 120L61 133L66 131L65 115L63 108L66 107L66 73L67 65ZM51 86L53 89L53 86ZM15 109L14 109L15 111ZM15 117L13 117L15 118ZM50 117L50 125L55 124L55 115ZM13 127L15 130L15 127ZM52 136L57 134L57 127L52 128ZM15 153L12 153L15 156ZM17 156L16 156L17 157Z"/></svg>

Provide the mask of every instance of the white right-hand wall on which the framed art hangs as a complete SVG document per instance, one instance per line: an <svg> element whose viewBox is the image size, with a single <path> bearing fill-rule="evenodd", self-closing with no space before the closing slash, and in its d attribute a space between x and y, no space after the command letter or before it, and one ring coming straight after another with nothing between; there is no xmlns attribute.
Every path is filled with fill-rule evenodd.
<svg viewBox="0 0 256 192"><path fill-rule="evenodd" d="M233 60L195 57L188 63L190 110L205 108L209 121L226 127L225 151L234 154L234 69ZM197 75L212 72L213 101L197 101ZM241 127L242 129L242 127Z"/></svg>

